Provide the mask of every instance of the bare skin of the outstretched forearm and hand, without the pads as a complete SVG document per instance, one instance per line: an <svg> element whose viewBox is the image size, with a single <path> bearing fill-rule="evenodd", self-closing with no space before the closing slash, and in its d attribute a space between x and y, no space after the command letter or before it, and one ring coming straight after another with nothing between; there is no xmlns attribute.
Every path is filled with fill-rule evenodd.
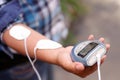
<svg viewBox="0 0 120 80"><path fill-rule="evenodd" d="M30 36L27 38L27 48L30 57L34 58L34 47L36 43L40 39L48 39L45 36L41 35L40 33L32 30L31 28L27 27L25 24L16 24L21 25L23 27L26 27L31 31ZM94 36L90 35L88 37L89 40L93 40ZM99 39L101 42L104 43L104 38ZM16 40L13 37L9 35L9 29L6 30L3 34L3 41L10 46L11 48L18 51L21 55L26 55L25 49L24 49L24 42L23 40ZM42 45L41 45L42 46ZM76 74L80 77L86 77L89 74L93 73L97 69L97 65L93 65L92 67L85 67L80 62L72 62L70 57L70 52L72 50L73 46L68 47L61 47L54 50L37 50L37 59L42 60L44 62L48 62L51 64L56 64L65 69L68 72L71 72L73 74ZM107 50L110 48L109 44L106 44ZM101 60L103 63L106 56L104 56Z"/></svg>

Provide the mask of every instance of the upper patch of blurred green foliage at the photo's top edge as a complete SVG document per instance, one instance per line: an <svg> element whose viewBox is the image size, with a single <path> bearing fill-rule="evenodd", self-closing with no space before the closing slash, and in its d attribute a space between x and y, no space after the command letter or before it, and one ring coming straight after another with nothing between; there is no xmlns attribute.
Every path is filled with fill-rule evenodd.
<svg viewBox="0 0 120 80"><path fill-rule="evenodd" d="M74 18L86 13L86 7L82 4L81 0L60 0L61 7L68 17Z"/></svg>

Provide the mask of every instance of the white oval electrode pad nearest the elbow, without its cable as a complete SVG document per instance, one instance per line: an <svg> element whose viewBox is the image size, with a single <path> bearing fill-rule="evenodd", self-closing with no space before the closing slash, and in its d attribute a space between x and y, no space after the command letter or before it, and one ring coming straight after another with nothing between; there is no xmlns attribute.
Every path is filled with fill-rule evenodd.
<svg viewBox="0 0 120 80"><path fill-rule="evenodd" d="M17 40L23 40L30 35L30 30L21 25L15 25L10 29L10 36Z"/></svg>

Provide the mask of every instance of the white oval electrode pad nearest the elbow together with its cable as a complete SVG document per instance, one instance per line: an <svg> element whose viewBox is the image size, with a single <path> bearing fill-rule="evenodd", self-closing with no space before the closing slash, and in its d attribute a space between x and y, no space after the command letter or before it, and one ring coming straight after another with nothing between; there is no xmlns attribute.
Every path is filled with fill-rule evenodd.
<svg viewBox="0 0 120 80"><path fill-rule="evenodd" d="M27 28L22 27L20 25L13 26L10 29L10 32L9 32L10 36L12 36L13 38L15 38L17 40L23 40L24 41L26 56L28 57L28 60L30 61L31 65L32 65L32 68L33 68L33 70L35 71L35 73L38 77L38 80L41 80L41 76L40 76L38 70L36 69L36 67L34 66L34 62L30 58L29 53L28 53L28 49L27 49L27 38L30 35L30 33L31 33L30 30L28 30ZM34 54L36 54L36 53L34 53Z"/></svg>

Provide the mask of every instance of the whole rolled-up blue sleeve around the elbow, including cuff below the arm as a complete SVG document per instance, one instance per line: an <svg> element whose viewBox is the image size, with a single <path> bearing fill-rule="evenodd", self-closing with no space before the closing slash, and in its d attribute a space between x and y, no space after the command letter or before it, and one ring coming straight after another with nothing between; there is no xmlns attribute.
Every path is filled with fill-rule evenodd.
<svg viewBox="0 0 120 80"><path fill-rule="evenodd" d="M0 51L4 51L11 58L13 58L13 54L17 52L4 43L2 35L3 31L7 29L9 25L22 22L21 19L19 19L21 14L22 8L19 4L19 0L11 0L0 7Z"/></svg>

